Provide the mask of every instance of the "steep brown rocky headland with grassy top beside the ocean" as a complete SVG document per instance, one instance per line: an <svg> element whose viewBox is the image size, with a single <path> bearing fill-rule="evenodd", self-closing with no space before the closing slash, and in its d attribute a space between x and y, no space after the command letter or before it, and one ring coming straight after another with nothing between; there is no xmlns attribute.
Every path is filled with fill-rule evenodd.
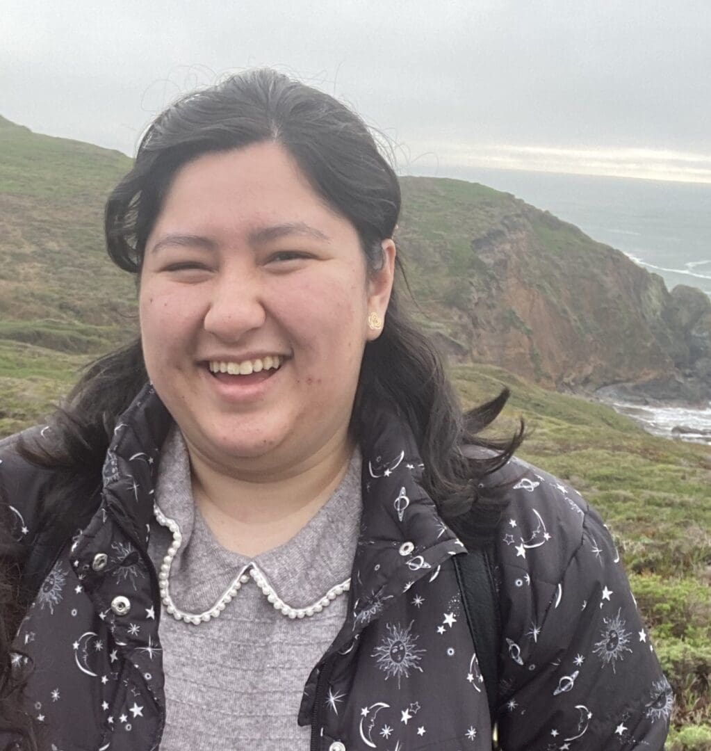
<svg viewBox="0 0 711 751"><path fill-rule="evenodd" d="M462 237L443 239L428 257L421 193L438 192L440 205L450 198L461 212L471 184L422 180L404 181L405 205L414 198L417 206L403 214L400 237L407 253L417 234L411 276L423 289L423 309L446 322L438 336L448 354L562 391L615 385L633 398L711 398L711 301L703 292L670 293L622 252L511 195L499 193L492 210L493 196L481 186L471 192L464 229L468 258Z"/></svg>

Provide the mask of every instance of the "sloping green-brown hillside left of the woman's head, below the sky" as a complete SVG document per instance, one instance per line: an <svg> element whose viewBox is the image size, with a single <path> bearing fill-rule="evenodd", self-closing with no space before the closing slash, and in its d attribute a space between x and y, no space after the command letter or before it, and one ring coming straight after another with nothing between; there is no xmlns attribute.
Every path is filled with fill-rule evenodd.
<svg viewBox="0 0 711 751"><path fill-rule="evenodd" d="M134 287L107 263L102 218L130 167L119 152L0 119L0 339L27 341L32 328L35 343L65 350L56 328L67 323L81 324L70 351L125 338Z"/></svg>

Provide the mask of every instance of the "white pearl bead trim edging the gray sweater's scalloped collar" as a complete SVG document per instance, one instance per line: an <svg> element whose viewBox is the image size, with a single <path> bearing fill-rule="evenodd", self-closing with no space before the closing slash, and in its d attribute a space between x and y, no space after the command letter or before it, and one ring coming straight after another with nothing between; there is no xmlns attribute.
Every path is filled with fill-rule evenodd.
<svg viewBox="0 0 711 751"><path fill-rule="evenodd" d="M167 555L164 556L161 563L161 570L158 572L158 588L161 593L161 600L168 614L172 615L176 620L183 620L185 623L192 623L195 626L199 623L207 623L212 618L218 617L222 611L224 611L227 603L231 602L236 593L242 588L243 584L247 584L250 578L255 581L255 584L262 590L267 596L267 600L272 603L275 610L280 611L288 618L303 618L311 617L316 613L320 613L324 608L333 602L339 595L344 592L348 592L351 588L351 578L349 577L341 584L336 584L335 587L331 587L328 592L321 597L320 600L309 605L308 608L292 608L291 605L287 605L276 593L272 585L266 576L255 566L254 562L248 563L243 566L243 569L238 575L230 582L229 587L221 594L220 598L212 608L208 608L203 613L186 613L176 607L173 602L173 598L170 596L170 589L168 584L168 576L170 575L170 566L173 565L173 558L179 550L182 542L182 534L178 523L173 519L168 519L158 505L153 507L155 518L161 526L167 527L173 535L173 542L168 547Z"/></svg>

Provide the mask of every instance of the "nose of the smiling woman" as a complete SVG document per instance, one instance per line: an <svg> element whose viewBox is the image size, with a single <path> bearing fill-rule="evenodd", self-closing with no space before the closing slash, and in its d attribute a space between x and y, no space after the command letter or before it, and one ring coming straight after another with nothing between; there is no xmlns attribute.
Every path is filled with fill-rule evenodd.
<svg viewBox="0 0 711 751"><path fill-rule="evenodd" d="M224 274L212 285L203 326L218 339L236 341L264 325L267 313L256 273Z"/></svg>

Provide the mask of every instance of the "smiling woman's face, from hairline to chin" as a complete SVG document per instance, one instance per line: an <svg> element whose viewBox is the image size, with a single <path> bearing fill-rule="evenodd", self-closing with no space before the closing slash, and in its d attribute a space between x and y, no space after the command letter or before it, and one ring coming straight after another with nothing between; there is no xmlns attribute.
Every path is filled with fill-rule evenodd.
<svg viewBox="0 0 711 751"><path fill-rule="evenodd" d="M383 246L369 276L353 225L275 143L176 173L146 243L140 329L149 378L188 446L268 469L345 440L363 348L378 335L367 318L384 318L390 297L395 249ZM225 367L240 375L214 372Z"/></svg>

